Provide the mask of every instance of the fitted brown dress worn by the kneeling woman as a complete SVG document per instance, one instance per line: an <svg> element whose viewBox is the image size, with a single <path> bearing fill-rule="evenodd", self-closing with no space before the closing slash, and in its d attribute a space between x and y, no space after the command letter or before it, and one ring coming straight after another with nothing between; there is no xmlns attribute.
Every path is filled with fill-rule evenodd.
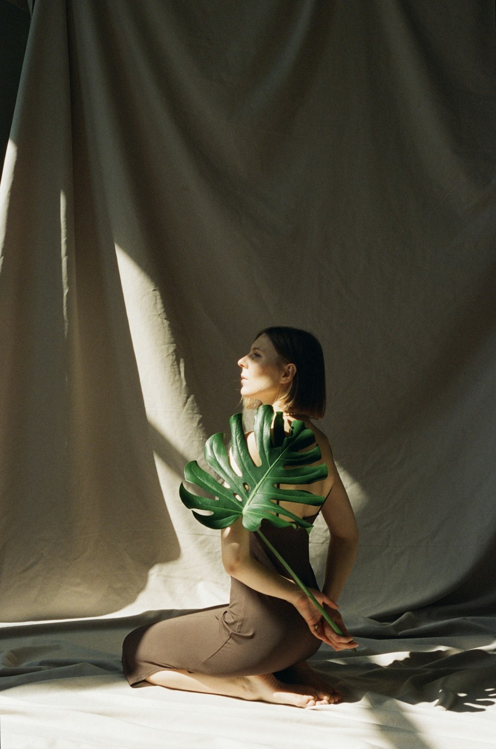
<svg viewBox="0 0 496 749"><path fill-rule="evenodd" d="M313 522L316 515L305 518ZM303 528L275 528L263 520L263 535L301 580L316 588ZM287 571L260 536L250 534L251 556L285 577ZM130 632L123 643L123 671L132 687L164 669L212 676L277 673L310 658L320 641L293 604L264 595L232 578L230 602L165 619Z"/></svg>

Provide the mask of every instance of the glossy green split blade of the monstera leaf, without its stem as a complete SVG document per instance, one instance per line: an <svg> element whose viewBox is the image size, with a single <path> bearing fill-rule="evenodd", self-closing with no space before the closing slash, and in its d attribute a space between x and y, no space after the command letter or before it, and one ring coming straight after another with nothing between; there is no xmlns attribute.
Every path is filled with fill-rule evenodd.
<svg viewBox="0 0 496 749"><path fill-rule="evenodd" d="M310 491L279 487L280 484L312 484L327 476L325 464L311 465L321 458L313 431L307 429L304 422L293 421L290 434L285 434L282 413L277 413L274 419L272 406L260 406L254 425L260 466L254 463L248 451L241 413L231 416L230 431L233 461L239 467L241 476L230 464L224 434L221 433L209 437L205 445L206 462L221 477L221 482L200 468L196 461L186 465L186 481L215 497L198 497L181 484L180 497L186 507L193 511L207 510L212 513L201 515L193 512L195 518L209 528L218 529L227 528L237 518L242 518L245 528L251 531L259 530L263 518L278 528L311 528L310 523L287 508L282 510L284 517L281 518L278 514L281 513L281 507L275 500L313 506L324 502L324 497L311 494ZM311 445L314 445L312 449L306 449Z"/></svg>

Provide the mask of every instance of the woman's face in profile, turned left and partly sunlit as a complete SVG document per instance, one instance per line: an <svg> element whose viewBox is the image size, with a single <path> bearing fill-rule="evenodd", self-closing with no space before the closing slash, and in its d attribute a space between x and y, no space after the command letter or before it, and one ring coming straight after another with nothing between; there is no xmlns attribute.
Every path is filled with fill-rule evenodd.
<svg viewBox="0 0 496 749"><path fill-rule="evenodd" d="M293 377L288 380L287 366L266 333L251 345L250 353L238 362L241 367L241 395L256 398L262 403L274 404L288 390ZM293 365L290 365L293 366Z"/></svg>

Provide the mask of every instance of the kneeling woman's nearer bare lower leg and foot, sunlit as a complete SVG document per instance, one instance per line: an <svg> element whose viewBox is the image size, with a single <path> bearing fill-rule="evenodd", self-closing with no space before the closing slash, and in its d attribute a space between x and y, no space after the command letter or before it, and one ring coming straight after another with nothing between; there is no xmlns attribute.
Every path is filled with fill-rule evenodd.
<svg viewBox="0 0 496 749"><path fill-rule="evenodd" d="M208 676L182 670L162 670L148 676L147 682L169 689L223 694L242 700L262 700L296 707L328 705L335 701L325 689L301 683L284 684L272 673L263 676Z"/></svg>

